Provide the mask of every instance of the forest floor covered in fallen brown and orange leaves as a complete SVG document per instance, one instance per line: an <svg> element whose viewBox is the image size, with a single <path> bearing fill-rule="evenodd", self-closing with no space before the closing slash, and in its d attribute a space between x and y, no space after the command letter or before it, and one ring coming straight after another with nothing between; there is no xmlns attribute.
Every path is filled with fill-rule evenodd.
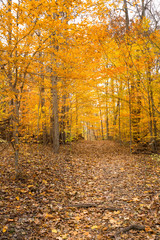
<svg viewBox="0 0 160 240"><path fill-rule="evenodd" d="M160 157L112 141L0 152L0 239L160 240Z"/></svg>

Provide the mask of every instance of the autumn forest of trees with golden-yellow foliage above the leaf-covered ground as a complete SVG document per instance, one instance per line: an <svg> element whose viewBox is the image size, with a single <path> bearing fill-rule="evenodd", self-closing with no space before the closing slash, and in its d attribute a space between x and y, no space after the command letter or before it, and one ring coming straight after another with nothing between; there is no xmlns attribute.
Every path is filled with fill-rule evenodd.
<svg viewBox="0 0 160 240"><path fill-rule="evenodd" d="M0 132L19 142L79 137L159 143L156 1L1 0Z"/></svg>

